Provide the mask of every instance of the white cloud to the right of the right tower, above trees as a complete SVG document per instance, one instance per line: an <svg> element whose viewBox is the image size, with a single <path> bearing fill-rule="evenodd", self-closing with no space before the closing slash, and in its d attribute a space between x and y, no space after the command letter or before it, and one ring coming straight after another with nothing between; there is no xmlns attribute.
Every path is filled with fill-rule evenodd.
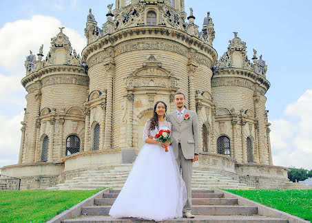
<svg viewBox="0 0 312 223"><path fill-rule="evenodd" d="M312 169L312 89L306 90L284 110L283 118L272 120L273 164Z"/></svg>

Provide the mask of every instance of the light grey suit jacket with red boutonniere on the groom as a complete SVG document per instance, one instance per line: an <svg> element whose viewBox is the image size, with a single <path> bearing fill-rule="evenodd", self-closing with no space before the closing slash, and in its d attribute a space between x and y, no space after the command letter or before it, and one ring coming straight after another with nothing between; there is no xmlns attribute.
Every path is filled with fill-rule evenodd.
<svg viewBox="0 0 312 223"><path fill-rule="evenodd" d="M185 120L186 114L189 115L187 120ZM199 129L196 112L185 109L179 121L176 110L174 110L167 114L167 120L172 124L171 145L174 148L174 156L178 158L178 140L180 138L183 156L186 159L194 159L194 154L199 152Z"/></svg>

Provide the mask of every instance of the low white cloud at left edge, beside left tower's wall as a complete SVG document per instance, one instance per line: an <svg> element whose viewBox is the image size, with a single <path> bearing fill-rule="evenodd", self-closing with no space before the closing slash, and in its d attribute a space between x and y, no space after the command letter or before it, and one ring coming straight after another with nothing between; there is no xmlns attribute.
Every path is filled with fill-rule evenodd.
<svg viewBox="0 0 312 223"><path fill-rule="evenodd" d="M0 116L0 167L17 164L19 161L22 120L23 111L12 118Z"/></svg>

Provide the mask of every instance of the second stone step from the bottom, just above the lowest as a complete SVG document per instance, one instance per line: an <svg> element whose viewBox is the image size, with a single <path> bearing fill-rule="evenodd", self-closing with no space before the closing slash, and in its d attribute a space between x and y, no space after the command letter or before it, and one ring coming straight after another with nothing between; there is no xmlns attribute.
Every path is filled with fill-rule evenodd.
<svg viewBox="0 0 312 223"><path fill-rule="evenodd" d="M108 215L112 206L85 206L81 209L83 215ZM192 205L194 215L256 215L256 206L237 205Z"/></svg>

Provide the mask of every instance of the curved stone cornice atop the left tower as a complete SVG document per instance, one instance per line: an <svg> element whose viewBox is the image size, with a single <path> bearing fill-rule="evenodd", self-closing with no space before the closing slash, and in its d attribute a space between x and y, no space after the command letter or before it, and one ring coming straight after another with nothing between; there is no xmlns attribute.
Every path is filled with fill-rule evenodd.
<svg viewBox="0 0 312 223"><path fill-rule="evenodd" d="M25 76L21 80L21 84L25 87L28 83L34 81L37 78L45 74L59 74L60 72L66 72L69 74L83 74L87 75L84 67L73 66L73 65L51 65L48 67L43 67L40 70L33 72L32 74Z"/></svg>

